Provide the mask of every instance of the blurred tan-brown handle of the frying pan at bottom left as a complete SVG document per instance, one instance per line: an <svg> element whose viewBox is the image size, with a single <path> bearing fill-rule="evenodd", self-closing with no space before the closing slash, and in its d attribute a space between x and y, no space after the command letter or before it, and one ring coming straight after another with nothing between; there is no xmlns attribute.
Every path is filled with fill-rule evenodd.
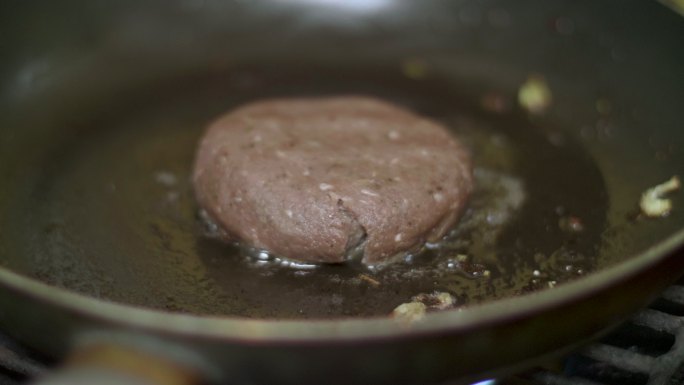
<svg viewBox="0 0 684 385"><path fill-rule="evenodd" d="M34 385L199 385L199 371L171 360L103 343L80 347L63 367L38 378Z"/></svg>

